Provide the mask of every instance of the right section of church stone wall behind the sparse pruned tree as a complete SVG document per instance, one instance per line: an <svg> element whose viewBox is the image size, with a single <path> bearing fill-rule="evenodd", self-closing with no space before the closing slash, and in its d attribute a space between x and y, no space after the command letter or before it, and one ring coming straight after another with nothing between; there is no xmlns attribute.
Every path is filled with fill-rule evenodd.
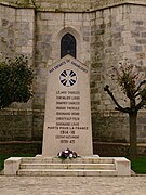
<svg viewBox="0 0 146 195"><path fill-rule="evenodd" d="M130 58L146 74L146 6L121 5L92 14L91 103L93 136L102 141L129 141L128 115L114 112L104 86L108 83L121 105L127 105L120 88L111 80L111 66ZM142 118L141 118L142 117ZM144 142L145 117L140 112L138 142Z"/></svg>

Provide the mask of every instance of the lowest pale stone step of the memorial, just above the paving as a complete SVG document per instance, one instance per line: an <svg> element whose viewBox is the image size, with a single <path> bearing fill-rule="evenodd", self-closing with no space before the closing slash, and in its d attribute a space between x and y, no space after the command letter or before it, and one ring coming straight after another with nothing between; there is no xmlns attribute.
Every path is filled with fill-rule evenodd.
<svg viewBox="0 0 146 195"><path fill-rule="evenodd" d="M27 177L116 177L118 172L116 170L65 170L65 169L19 169L17 176Z"/></svg>

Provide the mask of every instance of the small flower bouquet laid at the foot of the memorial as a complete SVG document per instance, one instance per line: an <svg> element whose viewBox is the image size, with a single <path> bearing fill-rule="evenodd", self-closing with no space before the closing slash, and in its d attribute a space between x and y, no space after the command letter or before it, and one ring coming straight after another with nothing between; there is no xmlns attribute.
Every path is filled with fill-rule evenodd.
<svg viewBox="0 0 146 195"><path fill-rule="evenodd" d="M57 156L58 156L58 158L62 158L62 159L67 159L67 158L72 159L72 158L79 157L75 151L70 151L69 148L67 148L65 151L61 151L57 154Z"/></svg>

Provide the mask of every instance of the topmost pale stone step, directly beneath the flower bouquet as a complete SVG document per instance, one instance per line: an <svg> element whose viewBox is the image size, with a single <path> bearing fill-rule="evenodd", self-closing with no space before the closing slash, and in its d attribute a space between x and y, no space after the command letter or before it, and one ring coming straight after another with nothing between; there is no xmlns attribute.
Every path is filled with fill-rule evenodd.
<svg viewBox="0 0 146 195"><path fill-rule="evenodd" d="M35 162L35 164L114 164L115 159L112 157L78 157L74 159L61 159L58 157L23 157L22 162Z"/></svg>

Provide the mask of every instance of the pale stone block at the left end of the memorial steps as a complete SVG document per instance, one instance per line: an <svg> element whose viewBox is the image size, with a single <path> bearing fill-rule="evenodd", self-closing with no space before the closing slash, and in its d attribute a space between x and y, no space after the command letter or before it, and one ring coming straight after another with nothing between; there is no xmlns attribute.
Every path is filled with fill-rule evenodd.
<svg viewBox="0 0 146 195"><path fill-rule="evenodd" d="M16 176L22 157L10 157L4 161L4 176Z"/></svg>

